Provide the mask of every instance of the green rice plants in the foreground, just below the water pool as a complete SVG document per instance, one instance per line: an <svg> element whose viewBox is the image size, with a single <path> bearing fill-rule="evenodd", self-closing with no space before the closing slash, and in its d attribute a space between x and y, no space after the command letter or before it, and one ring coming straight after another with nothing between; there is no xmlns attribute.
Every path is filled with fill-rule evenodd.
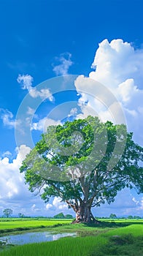
<svg viewBox="0 0 143 256"><path fill-rule="evenodd" d="M0 253L0 256L87 256L92 249L100 249L107 239L96 237L61 238L58 241L14 246Z"/></svg>

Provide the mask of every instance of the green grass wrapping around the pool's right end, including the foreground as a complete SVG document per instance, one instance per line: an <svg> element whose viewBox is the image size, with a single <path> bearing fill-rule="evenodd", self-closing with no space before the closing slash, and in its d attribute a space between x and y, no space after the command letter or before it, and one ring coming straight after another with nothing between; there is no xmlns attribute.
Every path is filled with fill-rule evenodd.
<svg viewBox="0 0 143 256"><path fill-rule="evenodd" d="M60 224L61 221L57 221ZM141 219L136 222L132 222L132 220L123 222L123 219L121 221L102 222L100 225L68 224L53 228L47 225L48 230L55 232L78 231L84 237L67 237L58 241L13 246L1 251L0 256L142 256L143 222Z"/></svg>

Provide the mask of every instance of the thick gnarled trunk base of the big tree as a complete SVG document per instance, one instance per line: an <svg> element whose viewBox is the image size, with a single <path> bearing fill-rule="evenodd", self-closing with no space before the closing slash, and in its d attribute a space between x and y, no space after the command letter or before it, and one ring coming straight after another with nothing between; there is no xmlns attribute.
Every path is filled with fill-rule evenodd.
<svg viewBox="0 0 143 256"><path fill-rule="evenodd" d="M91 206L89 204L82 202L76 211L76 219L72 223L98 223L98 221L93 217L91 212Z"/></svg>

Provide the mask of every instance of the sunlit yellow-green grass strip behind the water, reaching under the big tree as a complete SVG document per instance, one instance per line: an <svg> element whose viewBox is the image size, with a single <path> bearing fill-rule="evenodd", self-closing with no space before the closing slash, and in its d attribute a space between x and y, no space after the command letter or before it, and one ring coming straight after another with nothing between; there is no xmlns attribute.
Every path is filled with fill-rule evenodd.
<svg viewBox="0 0 143 256"><path fill-rule="evenodd" d="M124 226L122 222L101 222L98 225L71 225L72 219L0 219L0 235L6 233L19 233L26 230L38 230L41 228L48 228L48 230L52 230L54 228L55 232L72 232L78 231L81 234L95 233L96 230L98 231L105 228L111 227L120 227ZM126 225L126 224L125 224ZM100 231L101 231L100 230Z"/></svg>

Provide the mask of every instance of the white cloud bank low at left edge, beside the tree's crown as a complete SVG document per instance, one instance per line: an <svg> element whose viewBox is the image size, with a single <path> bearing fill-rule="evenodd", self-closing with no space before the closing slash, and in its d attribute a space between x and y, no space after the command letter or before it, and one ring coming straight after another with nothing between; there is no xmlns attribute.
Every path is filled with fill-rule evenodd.
<svg viewBox="0 0 143 256"><path fill-rule="evenodd" d="M31 148L26 145L21 145L20 148L15 149L16 157L14 159L7 151L0 159L0 214L4 208L12 208L13 214L17 215L21 212L26 216L36 215L45 209L45 203L40 197L28 191L24 175L19 170L22 162L21 156L26 157L30 150ZM6 155L7 157L5 157Z"/></svg>

